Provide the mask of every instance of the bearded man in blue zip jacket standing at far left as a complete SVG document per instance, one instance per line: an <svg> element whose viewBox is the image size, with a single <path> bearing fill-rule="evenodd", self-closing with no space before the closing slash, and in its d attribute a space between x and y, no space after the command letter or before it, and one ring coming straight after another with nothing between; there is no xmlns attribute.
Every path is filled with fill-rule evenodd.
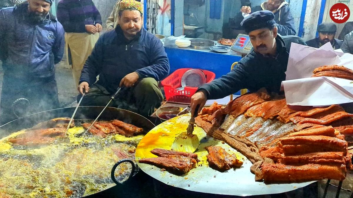
<svg viewBox="0 0 353 198"><path fill-rule="evenodd" d="M2 124L59 107L54 64L64 53L64 29L49 13L53 0L28 0L0 10L0 59L4 69Z"/></svg>

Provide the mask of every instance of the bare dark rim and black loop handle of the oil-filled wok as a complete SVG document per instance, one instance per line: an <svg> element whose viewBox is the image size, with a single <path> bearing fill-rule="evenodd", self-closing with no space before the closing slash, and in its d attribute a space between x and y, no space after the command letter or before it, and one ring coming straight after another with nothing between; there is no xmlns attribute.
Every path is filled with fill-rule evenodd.
<svg viewBox="0 0 353 198"><path fill-rule="evenodd" d="M103 108L104 107L101 107L101 106L79 107L74 119L75 120L95 119L98 116L98 114L103 110ZM29 115L29 116L25 116L22 118L18 118L16 120L13 120L7 124L0 126L0 138L6 137L6 136L10 135L11 133L22 130L22 129L31 128L32 126L34 126L40 122L44 122L44 121L47 121L47 120L50 120L53 118L71 117L74 110L75 110L75 107L66 107L66 108L43 111L43 112L35 113L35 114ZM104 110L101 117L99 118L99 120L112 120L112 119L119 119L125 123L133 124L135 126L143 128L145 131L150 131L152 128L155 127L155 125L152 122L150 122L147 118L140 116L137 113L133 113L131 111L118 109L118 108L114 108L114 107L107 107L107 109ZM131 170L131 172L127 173L127 175L129 175L128 178L133 176L133 173L135 170L135 165L134 165L134 162L131 160L124 159L124 160L117 162L114 166L107 165L107 166L113 167L112 172L111 172L111 177L112 177L112 180L115 182L115 184L119 184L119 182L114 178L115 168L117 166L119 166L120 163L123 163L123 162L131 163L132 170ZM107 185L107 187L104 190L107 190L113 186L115 186L115 185L114 184ZM104 190L102 190L102 191L104 191ZM95 194L95 193L92 193L92 194ZM87 194L86 196L90 196L92 194Z"/></svg>

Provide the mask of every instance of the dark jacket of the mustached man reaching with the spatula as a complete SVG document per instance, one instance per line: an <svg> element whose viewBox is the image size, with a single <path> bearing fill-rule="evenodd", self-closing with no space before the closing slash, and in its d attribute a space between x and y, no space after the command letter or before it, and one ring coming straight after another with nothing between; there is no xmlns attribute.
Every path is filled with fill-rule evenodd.
<svg viewBox="0 0 353 198"><path fill-rule="evenodd" d="M205 89L207 99L224 98L245 88L257 91L265 87L269 92L280 92L281 82L286 79L289 54L280 36L276 37L276 44L278 54L275 58L252 51L230 73L202 85L198 91Z"/></svg>

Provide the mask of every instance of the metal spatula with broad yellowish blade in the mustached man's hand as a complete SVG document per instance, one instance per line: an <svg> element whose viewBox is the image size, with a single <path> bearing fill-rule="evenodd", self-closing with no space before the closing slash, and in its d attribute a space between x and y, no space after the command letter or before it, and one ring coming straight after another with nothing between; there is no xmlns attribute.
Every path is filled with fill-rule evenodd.
<svg viewBox="0 0 353 198"><path fill-rule="evenodd" d="M186 132L182 132L177 138L175 138L172 149L181 152L193 153L199 145L199 139L197 135L192 134L194 131L195 117L200 105L196 106L195 112L191 115L189 120L189 126L187 126Z"/></svg>

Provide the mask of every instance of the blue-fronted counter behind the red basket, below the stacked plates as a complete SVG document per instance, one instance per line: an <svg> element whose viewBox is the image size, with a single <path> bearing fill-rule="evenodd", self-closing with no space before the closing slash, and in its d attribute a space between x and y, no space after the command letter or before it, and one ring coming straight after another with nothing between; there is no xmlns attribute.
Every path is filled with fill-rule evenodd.
<svg viewBox="0 0 353 198"><path fill-rule="evenodd" d="M169 74L180 68L198 68L214 72L216 78L219 78L231 70L234 62L241 59L241 55L233 50L227 53L218 53L210 49L179 48L174 41L170 42L166 39L164 45L169 58Z"/></svg>

